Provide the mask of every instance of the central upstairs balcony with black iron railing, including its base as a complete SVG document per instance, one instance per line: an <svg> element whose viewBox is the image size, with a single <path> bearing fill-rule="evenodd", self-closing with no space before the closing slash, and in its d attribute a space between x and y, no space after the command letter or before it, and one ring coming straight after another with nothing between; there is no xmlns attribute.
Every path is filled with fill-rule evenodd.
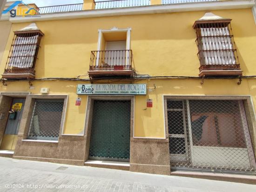
<svg viewBox="0 0 256 192"><path fill-rule="evenodd" d="M92 51L88 74L91 79L132 78L132 66L132 50Z"/></svg>

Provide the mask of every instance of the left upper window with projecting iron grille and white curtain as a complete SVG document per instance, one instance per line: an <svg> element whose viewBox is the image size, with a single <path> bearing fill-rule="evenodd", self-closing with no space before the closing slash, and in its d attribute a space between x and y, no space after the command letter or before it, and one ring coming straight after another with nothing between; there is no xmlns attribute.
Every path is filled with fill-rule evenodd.
<svg viewBox="0 0 256 192"><path fill-rule="evenodd" d="M42 36L43 33L40 30L14 32L4 73L31 73L34 75Z"/></svg>

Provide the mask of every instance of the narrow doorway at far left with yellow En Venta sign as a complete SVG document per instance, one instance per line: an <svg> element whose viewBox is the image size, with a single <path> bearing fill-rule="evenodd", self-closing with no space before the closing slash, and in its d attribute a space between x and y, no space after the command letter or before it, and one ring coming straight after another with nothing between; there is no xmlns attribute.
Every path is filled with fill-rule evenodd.
<svg viewBox="0 0 256 192"><path fill-rule="evenodd" d="M0 150L13 151L15 149L25 100L23 98L13 98L12 104L9 107L8 120Z"/></svg>

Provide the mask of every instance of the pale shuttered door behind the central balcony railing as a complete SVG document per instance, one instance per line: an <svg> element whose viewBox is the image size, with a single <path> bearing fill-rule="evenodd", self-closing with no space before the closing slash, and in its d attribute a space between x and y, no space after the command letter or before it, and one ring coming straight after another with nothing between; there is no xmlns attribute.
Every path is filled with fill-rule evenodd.
<svg viewBox="0 0 256 192"><path fill-rule="evenodd" d="M106 41L105 64L124 66L126 60L126 41Z"/></svg>

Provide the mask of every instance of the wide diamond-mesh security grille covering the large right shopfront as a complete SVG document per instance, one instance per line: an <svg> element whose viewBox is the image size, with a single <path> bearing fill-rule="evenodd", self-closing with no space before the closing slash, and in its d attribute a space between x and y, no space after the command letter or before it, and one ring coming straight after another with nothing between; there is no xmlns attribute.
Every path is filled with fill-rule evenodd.
<svg viewBox="0 0 256 192"><path fill-rule="evenodd" d="M167 100L173 169L256 171L242 100Z"/></svg>

